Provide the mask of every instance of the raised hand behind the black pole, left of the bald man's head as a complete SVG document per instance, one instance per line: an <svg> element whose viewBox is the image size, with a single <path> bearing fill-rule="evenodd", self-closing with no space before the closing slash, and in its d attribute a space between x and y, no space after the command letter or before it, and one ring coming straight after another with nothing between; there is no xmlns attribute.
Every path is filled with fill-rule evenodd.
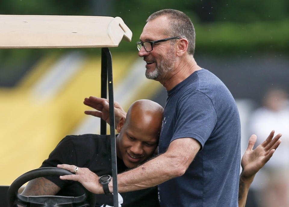
<svg viewBox="0 0 289 207"><path fill-rule="evenodd" d="M84 99L83 103L97 110L97 111L84 111L85 114L102 118L104 121L110 124L108 99L89 96L89 98ZM126 117L126 112L116 101L114 102L114 116L115 116L115 126L117 126L118 122L122 117L124 118Z"/></svg>

